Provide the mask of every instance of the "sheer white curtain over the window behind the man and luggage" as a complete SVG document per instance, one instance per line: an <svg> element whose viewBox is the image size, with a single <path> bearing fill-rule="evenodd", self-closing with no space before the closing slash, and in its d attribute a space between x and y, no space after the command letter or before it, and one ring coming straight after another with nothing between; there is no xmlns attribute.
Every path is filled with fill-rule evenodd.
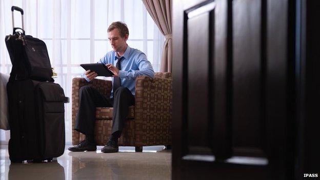
<svg viewBox="0 0 320 180"><path fill-rule="evenodd" d="M159 71L164 36L139 0L0 0L0 72L10 73L11 62L4 38L12 34L11 6L25 11L26 34L42 39L51 66L66 96L71 98L72 78L83 73L82 63L95 63L111 50L108 26L123 21L129 28L128 45L146 53L155 72ZM15 26L21 15L15 12ZM71 142L71 102L65 105L66 142ZM0 141L9 131L0 130Z"/></svg>

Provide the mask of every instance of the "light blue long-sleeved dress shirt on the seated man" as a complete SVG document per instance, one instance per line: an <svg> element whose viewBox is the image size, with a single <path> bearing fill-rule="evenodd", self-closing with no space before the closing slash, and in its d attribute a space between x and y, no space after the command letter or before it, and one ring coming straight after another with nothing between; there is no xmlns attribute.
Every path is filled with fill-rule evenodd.
<svg viewBox="0 0 320 180"><path fill-rule="evenodd" d="M151 78L154 78L154 71L151 63L148 61L145 53L130 48L127 46L127 49L123 55L123 59L121 60L121 70L119 71L119 77L121 81L121 86L128 88L133 95L135 95L135 78L139 75L146 75ZM103 64L112 64L116 65L118 57L116 56L115 51L109 51L103 58L99 60L98 63ZM89 78L84 74L82 74L88 82ZM112 77L112 85L113 85L113 77ZM113 90L111 90L110 98L113 97Z"/></svg>

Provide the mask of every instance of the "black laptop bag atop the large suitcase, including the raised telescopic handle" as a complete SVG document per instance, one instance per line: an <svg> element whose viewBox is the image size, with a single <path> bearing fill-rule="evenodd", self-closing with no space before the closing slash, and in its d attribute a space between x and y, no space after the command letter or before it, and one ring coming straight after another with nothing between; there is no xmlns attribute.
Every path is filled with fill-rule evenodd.
<svg viewBox="0 0 320 180"><path fill-rule="evenodd" d="M23 10L12 6L12 24L14 24L14 10L20 11L23 17ZM25 35L23 28L15 27L13 27L12 35L7 35L5 41L12 63L10 79L31 78L37 81L53 82L51 78L52 69L45 42L30 35Z"/></svg>

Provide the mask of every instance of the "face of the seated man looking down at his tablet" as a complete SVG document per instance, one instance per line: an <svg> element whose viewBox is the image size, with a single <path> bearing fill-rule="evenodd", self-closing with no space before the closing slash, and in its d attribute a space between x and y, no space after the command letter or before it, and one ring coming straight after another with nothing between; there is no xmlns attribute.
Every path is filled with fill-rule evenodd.
<svg viewBox="0 0 320 180"><path fill-rule="evenodd" d="M108 33L108 38L111 47L115 52L121 52L125 50L128 34L126 34L125 37L121 37L119 30L117 28L114 28Z"/></svg>

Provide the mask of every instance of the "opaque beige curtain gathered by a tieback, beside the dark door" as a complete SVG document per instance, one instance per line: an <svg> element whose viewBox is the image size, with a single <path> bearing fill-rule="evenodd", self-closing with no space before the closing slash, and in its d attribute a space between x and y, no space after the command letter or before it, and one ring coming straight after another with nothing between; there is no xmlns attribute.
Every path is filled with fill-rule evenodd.
<svg viewBox="0 0 320 180"><path fill-rule="evenodd" d="M142 0L158 26L165 35L166 41L161 57L161 72L171 72L172 65L172 26L171 26L171 0Z"/></svg>

